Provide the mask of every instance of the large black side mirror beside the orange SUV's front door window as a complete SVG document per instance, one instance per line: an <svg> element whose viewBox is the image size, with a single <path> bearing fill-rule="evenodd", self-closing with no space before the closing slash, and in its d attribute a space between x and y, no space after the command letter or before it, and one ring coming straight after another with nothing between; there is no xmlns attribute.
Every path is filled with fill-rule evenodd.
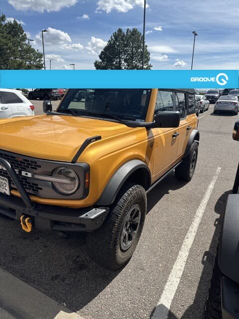
<svg viewBox="0 0 239 319"><path fill-rule="evenodd" d="M155 115L154 128L177 128L180 124L178 111L162 111Z"/></svg>

